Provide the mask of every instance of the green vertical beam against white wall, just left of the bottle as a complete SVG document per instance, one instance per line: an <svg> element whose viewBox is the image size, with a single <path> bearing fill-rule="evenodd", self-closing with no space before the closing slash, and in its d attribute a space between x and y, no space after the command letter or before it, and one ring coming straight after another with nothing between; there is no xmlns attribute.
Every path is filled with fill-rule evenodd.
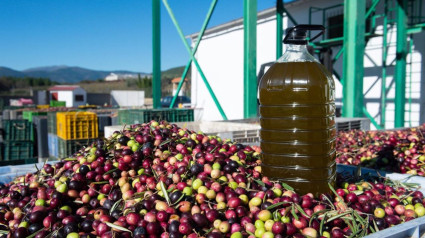
<svg viewBox="0 0 425 238"><path fill-rule="evenodd" d="M244 0L244 117L257 117L257 0Z"/></svg>

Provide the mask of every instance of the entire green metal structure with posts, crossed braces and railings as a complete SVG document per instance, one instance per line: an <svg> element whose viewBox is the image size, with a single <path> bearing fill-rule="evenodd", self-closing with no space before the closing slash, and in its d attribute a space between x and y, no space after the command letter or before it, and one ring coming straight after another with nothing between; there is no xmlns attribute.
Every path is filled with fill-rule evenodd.
<svg viewBox="0 0 425 238"><path fill-rule="evenodd" d="M161 97L161 69L160 69L160 0L152 0L152 26L153 26L153 99L154 107L159 107ZM175 103L175 99L178 92L181 89L183 80L193 63L199 71L201 78L203 79L209 93L211 94L217 108L219 109L223 119L227 119L224 111L222 110L217 98L214 95L209 83L203 74L198 62L196 61L194 54L198 48L199 42L203 36L203 33L207 27L211 14L214 10L214 6L217 0L214 0L211 4L210 11L207 14L207 18L198 35L198 40L193 50L190 49L186 42L183 33L169 7L167 0L163 0L168 13L177 28L177 31L185 44L186 49L190 54L190 60L186 65L186 68L182 75L182 80L179 82L177 94L173 98L172 105ZM397 25L397 58L396 58L396 70L395 70L395 84L396 84L396 97L395 97L395 127L404 126L404 113L406 106L406 56L407 56L407 35L421 32L425 29L425 17L422 16L422 2L414 2L417 5L408 5L407 0L385 0L385 13L376 15L376 6L382 0L372 0L369 9L366 12L365 6L366 0L345 0L344 4L338 4L327 8L311 7L309 11L311 24L312 14L318 11L322 11L323 22L325 22L327 10L335 9L336 7L345 6L344 8L344 37L338 37L333 39L322 40L321 42L315 43L316 47L332 47L336 45L343 45L343 47L337 52L333 58L333 62L338 60L340 56L343 56L343 71L344 75L341 79L344 85L344 96L343 96L343 115L347 117L362 116L369 117L372 123L377 127L384 127L386 121L386 110L385 104L387 101L386 77L387 77L387 64L385 59L387 58L387 34L388 25ZM393 22L389 19L388 8L389 1L396 1L394 10L397 13L396 20ZM411 2L409 2L411 3ZM410 9L410 21L406 12ZM391 8L391 10L393 10ZM244 0L244 117L254 117L257 112L257 79L256 79L256 24L257 24L257 0ZM413 12L413 13L412 13ZM291 14L285 9L282 0L278 0L276 3L276 58L282 55L282 33L283 13L291 20L294 24L297 24ZM413 15L412 15L413 14ZM383 17L384 30L383 30L383 67L382 67L382 85L381 85L381 118L378 124L374 118L366 111L363 105L363 54L365 47L365 39L370 37L378 36L374 34L376 27L376 19ZM365 20L371 18L371 32L364 32ZM325 39L323 36L322 39ZM410 42L412 44L412 42ZM409 101L410 102L410 101ZM410 108L410 107L409 107Z"/></svg>

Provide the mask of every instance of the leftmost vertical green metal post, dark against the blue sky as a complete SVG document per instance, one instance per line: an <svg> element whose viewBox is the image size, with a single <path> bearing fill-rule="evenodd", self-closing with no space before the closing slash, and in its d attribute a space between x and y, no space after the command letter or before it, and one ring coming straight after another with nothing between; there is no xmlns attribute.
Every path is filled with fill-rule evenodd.
<svg viewBox="0 0 425 238"><path fill-rule="evenodd" d="M160 0L152 0L152 97L153 108L161 107L161 11Z"/></svg>

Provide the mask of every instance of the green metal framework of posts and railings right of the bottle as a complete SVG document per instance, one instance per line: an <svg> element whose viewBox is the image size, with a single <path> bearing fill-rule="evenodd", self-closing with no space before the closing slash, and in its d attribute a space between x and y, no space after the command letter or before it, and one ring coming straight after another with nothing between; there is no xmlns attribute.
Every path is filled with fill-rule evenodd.
<svg viewBox="0 0 425 238"><path fill-rule="evenodd" d="M384 1L384 13L383 14L375 14L376 6L380 2ZM425 16L422 16L422 1L407 1L407 0L372 0L370 6L367 11L363 15L363 11L361 14L357 14L359 11L358 4L363 5L364 0L362 1L354 1L354 0L345 0L344 4L336 4L334 6L330 6L327 8L319 8L319 7L311 7L309 10L309 23L312 23L313 14L317 14L321 12L322 14L322 22L326 21L326 11L335 9L337 7L345 6L344 8L344 37L337 37L332 39L325 39L323 36L323 40L320 42L316 42L313 44L315 47L333 47L343 45L341 49L337 52L335 57L333 58L333 62L335 62L338 58L340 58L341 54L344 55L344 78L341 80L344 85L344 95L343 95L343 115L344 116L361 116L365 115L371 119L372 123L377 128L384 128L386 122L386 103L387 103L387 93L388 88L386 87L386 78L387 78L387 62L386 58L388 56L388 26L395 24L397 25L397 57L396 57L396 72L395 72L395 82L396 82L396 98L395 98L395 127L403 127L404 126L404 115L406 113L405 107L408 102L411 102L411 98L409 96L409 101L406 102L406 56L408 51L407 45L407 36L409 34L415 34L418 32L422 32L425 29ZM396 3L393 6L390 6L389 2ZM408 4L409 3L409 4ZM351 4L351 5L349 5ZM354 6L353 5L357 5ZM361 9L364 9L363 5ZM391 11L396 13L396 19L394 21L390 20ZM409 16L407 16L406 12L409 11ZM353 13L350 15L350 13ZM376 29L376 20L377 18L382 18L383 20L383 51L382 51L382 83L381 83L381 108L380 108L380 122L379 125L375 121L374 117L372 117L369 113L367 113L365 108L363 107L362 99L358 99L360 91L359 88L362 84L363 77L363 50L364 49L364 41L360 40L360 38L355 38L355 35L359 37L356 33L358 29L354 27L354 24L363 24L367 19L370 19L370 31L364 34L366 41L371 37L381 36L375 34ZM349 32L347 32L348 27L352 27ZM353 28L354 27L354 28ZM357 25L359 27L359 25ZM353 31L354 30L354 31ZM351 36L347 35L347 33L351 33ZM412 43L412 42L410 42ZM351 45L351 46L350 46ZM351 53L347 52L347 46L351 48ZM359 57L353 55L353 48L357 49L355 52ZM347 53L346 53L347 52ZM354 58L357 58L354 60ZM358 66L357 68L351 66ZM348 75L347 75L348 73ZM353 80L352 77L357 79ZM360 78L361 75L361 78ZM347 78L350 78L348 81L348 85L346 84ZM410 82L409 82L410 85ZM357 97L355 96L357 95ZM409 94L410 95L410 94ZM348 104L347 104L348 102ZM410 108L410 104L409 104ZM360 113L362 112L362 113ZM410 116L409 116L410 117ZM378 127L379 126L379 127Z"/></svg>

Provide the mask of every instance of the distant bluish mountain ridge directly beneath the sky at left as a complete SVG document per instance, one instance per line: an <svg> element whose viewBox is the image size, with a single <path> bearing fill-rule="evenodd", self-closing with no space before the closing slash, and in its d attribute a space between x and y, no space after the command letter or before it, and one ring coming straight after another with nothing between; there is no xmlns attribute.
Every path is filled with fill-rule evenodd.
<svg viewBox="0 0 425 238"><path fill-rule="evenodd" d="M36 77L36 78L49 78L52 81L59 83L78 83L82 80L97 80L103 79L110 73L116 74L138 74L138 72L126 70L102 71L91 70L81 67L70 67L65 65L47 66L26 69L17 71L6 67L0 67L0 76L13 76L13 77ZM148 75L147 73L140 73Z"/></svg>

